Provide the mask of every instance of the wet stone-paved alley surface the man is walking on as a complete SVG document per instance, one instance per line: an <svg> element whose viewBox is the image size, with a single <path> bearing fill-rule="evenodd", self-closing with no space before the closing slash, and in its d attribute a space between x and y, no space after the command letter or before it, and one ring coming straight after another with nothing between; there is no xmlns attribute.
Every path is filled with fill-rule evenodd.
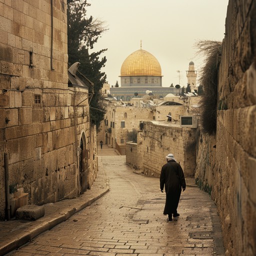
<svg viewBox="0 0 256 256"><path fill-rule="evenodd" d="M108 148L99 155L109 192L9 255L224 255L216 206L207 193L187 186L179 219L167 222L158 178L134 173L125 156Z"/></svg>

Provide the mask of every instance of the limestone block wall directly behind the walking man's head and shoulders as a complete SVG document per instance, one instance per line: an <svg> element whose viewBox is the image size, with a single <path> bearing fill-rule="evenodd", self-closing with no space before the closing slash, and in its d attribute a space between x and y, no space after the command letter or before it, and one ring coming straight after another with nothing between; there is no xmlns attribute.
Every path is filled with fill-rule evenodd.
<svg viewBox="0 0 256 256"><path fill-rule="evenodd" d="M159 176L165 156L173 153L185 176L193 176L196 150L196 129L170 125L160 121L144 121L142 133L143 172ZM150 161L148 161L150 159Z"/></svg>

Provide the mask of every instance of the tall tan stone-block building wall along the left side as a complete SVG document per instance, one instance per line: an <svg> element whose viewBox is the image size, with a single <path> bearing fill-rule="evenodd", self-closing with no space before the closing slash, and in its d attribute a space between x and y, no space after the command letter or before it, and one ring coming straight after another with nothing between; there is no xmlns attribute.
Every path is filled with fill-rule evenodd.
<svg viewBox="0 0 256 256"><path fill-rule="evenodd" d="M96 175L88 89L67 84L66 0L53 1L52 10L53 23L48 0L0 3L0 189L6 152L9 183L23 187L35 204L79 193L81 140L92 148L90 185ZM4 208L2 192L0 218Z"/></svg>

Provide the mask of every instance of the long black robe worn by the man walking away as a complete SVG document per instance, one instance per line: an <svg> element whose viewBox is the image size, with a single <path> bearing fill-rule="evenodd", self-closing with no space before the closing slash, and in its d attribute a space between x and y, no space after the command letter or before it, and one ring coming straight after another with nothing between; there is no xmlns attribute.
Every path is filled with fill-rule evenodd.
<svg viewBox="0 0 256 256"><path fill-rule="evenodd" d="M181 187L186 187L184 173L179 163L170 160L162 166L160 174L161 190L163 190L164 185L166 200L163 214L176 213Z"/></svg>

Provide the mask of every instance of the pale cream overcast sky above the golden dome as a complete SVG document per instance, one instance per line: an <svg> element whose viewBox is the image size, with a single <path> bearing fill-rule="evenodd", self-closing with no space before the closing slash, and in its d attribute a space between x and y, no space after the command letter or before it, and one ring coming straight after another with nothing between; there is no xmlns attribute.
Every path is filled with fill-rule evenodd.
<svg viewBox="0 0 256 256"><path fill-rule="evenodd" d="M200 73L203 58L195 56L199 40L222 41L228 0L89 0L86 15L105 21L108 30L93 51L107 48L102 68L110 85L120 85L120 68L132 52L142 49L161 65L162 86L186 86L192 60ZM179 70L180 72L177 72ZM178 74L180 76L178 76ZM197 83L197 86L199 84Z"/></svg>

